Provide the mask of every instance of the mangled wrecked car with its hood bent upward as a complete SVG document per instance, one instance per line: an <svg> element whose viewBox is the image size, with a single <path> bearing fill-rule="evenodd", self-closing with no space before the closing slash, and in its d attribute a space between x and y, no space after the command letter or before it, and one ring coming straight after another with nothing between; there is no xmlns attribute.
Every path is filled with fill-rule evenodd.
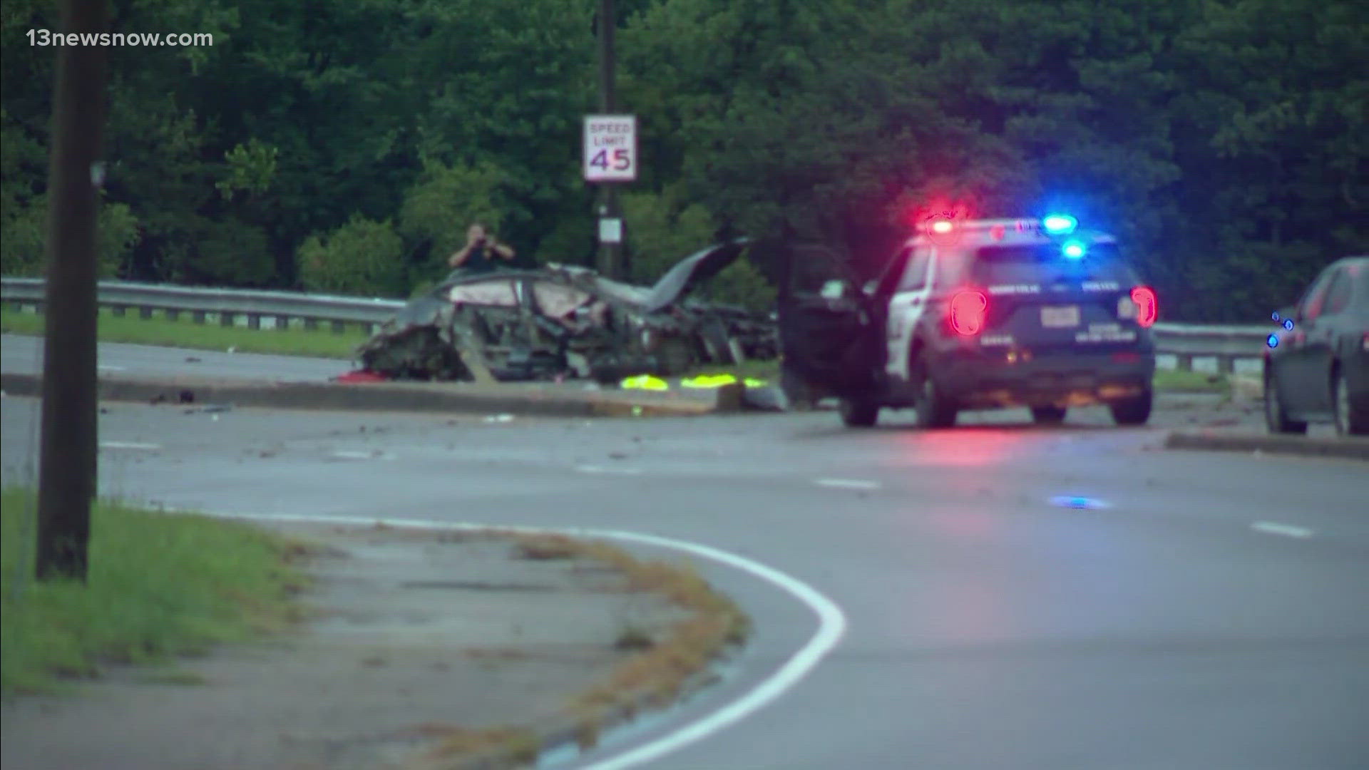
<svg viewBox="0 0 1369 770"><path fill-rule="evenodd" d="M773 358L769 318L686 296L745 245L735 240L694 253L652 288L564 264L457 274L412 300L357 355L366 370L396 380L605 382Z"/></svg>

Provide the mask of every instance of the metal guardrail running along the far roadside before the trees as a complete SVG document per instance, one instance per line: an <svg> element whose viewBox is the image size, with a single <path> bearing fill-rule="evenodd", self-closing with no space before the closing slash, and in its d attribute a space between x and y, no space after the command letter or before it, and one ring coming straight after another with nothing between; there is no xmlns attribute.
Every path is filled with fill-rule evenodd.
<svg viewBox="0 0 1369 770"><path fill-rule="evenodd" d="M0 278L0 300L5 304L37 308L44 299L42 278ZM242 319L252 329L316 329L329 323L337 333L349 323L375 332L405 304L402 300L123 281L101 281L97 301L112 308L115 315L129 310L137 310L142 318L152 318L157 311L172 319L190 314L197 323L207 323L214 316L220 325L233 326ZM1217 360L1221 373L1231 373L1238 359L1261 358L1269 336L1265 325L1157 323L1154 330L1157 351L1175 356L1177 369L1191 370L1195 358L1207 358Z"/></svg>

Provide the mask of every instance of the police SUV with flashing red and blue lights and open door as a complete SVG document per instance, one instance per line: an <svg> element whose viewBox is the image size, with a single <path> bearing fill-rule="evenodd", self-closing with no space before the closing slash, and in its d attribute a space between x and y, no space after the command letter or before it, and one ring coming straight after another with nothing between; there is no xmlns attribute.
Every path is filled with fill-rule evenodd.
<svg viewBox="0 0 1369 770"><path fill-rule="evenodd" d="M1073 216L934 219L862 290L782 301L780 343L786 380L836 396L849 426L883 407L923 427L1002 407L1058 423L1083 404L1143 425L1155 319L1116 240Z"/></svg>

